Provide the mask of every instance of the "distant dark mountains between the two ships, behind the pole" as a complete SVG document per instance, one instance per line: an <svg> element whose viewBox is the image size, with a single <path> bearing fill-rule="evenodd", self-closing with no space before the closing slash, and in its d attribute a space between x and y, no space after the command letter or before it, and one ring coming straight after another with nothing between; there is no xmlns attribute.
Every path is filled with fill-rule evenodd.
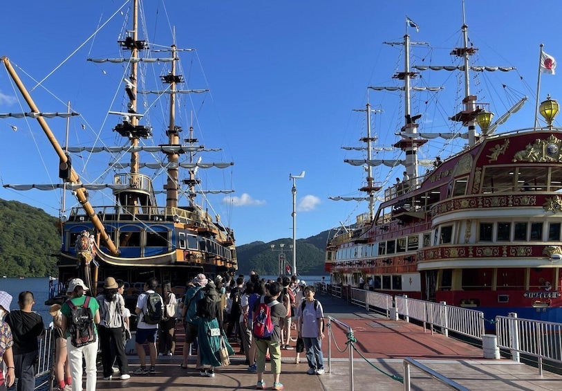
<svg viewBox="0 0 562 391"><path fill-rule="evenodd" d="M318 235L306 239L297 240L297 273L299 275L322 275L324 271L324 259L328 233L326 230ZM274 244L274 251L271 245ZM280 247L285 244L286 263L292 265L292 239L277 239L273 242L252 242L236 246L236 256L238 257L238 271L241 274L249 274L254 270L259 275L277 275Z"/></svg>

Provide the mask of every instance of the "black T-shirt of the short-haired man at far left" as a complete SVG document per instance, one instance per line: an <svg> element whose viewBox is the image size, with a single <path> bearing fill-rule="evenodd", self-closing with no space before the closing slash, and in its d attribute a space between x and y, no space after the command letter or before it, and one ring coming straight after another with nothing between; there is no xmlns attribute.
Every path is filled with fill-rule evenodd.
<svg viewBox="0 0 562 391"><path fill-rule="evenodd" d="M14 354L35 352L38 349L37 337L45 331L43 318L39 313L15 310L8 313L5 320L12 329Z"/></svg>

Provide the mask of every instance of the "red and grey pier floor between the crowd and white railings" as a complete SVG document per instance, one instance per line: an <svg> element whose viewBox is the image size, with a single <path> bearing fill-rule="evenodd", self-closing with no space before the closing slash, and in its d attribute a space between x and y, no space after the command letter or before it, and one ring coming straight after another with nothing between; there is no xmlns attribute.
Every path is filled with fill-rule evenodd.
<svg viewBox="0 0 562 391"><path fill-rule="evenodd" d="M345 300L328 295L317 297L324 305L326 315L337 318L349 325L357 340L357 350L368 360L354 352L355 390L404 390L404 385L393 378L403 376L403 358L409 356L427 367L460 383L469 390L559 390L562 376L543 372L530 365L515 363L509 359L486 360L483 350L460 340L441 334L431 334L423 327L404 320L388 320L360 307L353 307ZM178 329L180 329L178 325ZM339 349L346 347L346 330L333 325L333 336ZM178 330L180 331L180 330ZM182 331L182 330L181 330ZM160 390L253 390L256 374L247 372L243 355L231 357L228 367L216 368L214 378L201 377L195 369L195 357L190 357L187 370L180 368L182 362L182 332L178 333L177 349L174 356L159 356L156 374L135 376L127 381L104 381L98 372L98 390L120 390L123 388L147 391ZM238 352L238 346L233 346ZM332 343L332 362L328 368L328 341L323 343L326 374L306 374L308 365L304 353L301 363L296 364L294 350L283 350L281 382L285 390L350 390L349 354L339 352ZM138 365L135 354L129 355L131 372ZM378 368L375 369L375 367ZM266 365L264 379L266 389L271 390L272 375ZM445 385L431 376L411 368L413 390L447 390Z"/></svg>

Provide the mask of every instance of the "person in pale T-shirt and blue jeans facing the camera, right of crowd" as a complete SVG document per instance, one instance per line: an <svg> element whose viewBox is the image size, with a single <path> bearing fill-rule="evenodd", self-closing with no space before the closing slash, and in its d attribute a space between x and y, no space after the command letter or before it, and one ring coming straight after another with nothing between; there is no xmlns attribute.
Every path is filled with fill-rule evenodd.
<svg viewBox="0 0 562 391"><path fill-rule="evenodd" d="M308 361L307 374L324 374L324 356L322 340L324 339L324 311L322 304L315 300L315 288L312 285L304 289L306 300L299 306L299 334L303 338Z"/></svg>

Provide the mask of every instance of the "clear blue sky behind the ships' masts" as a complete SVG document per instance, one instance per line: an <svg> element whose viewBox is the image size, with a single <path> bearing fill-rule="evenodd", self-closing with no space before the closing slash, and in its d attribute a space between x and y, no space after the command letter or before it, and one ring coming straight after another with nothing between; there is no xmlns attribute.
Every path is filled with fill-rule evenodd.
<svg viewBox="0 0 562 391"><path fill-rule="evenodd" d="M70 100L84 116L73 120L71 128L79 129L86 121L92 129L103 128L109 133L105 140L108 145L118 142L111 132L115 118L105 122L104 118L119 78L103 73L109 66L91 64L85 58L115 57L121 19L112 19L95 39L86 39L123 3L10 1L3 4L0 30L0 55L10 57L20 73L35 80L48 76L43 83L46 89L37 88L33 93L41 110L65 111ZM200 110L198 125L205 134L203 142L207 147L223 147L220 159L235 163L232 174L219 174L218 179L215 175L212 183L214 188L234 188L235 198L229 204L223 202L224 196L212 196L211 203L223 222L234 228L238 244L292 237L289 174L303 170L305 178L297 180L297 239L337 227L339 221L353 221L357 213L365 212L366 203L336 202L328 197L358 196L357 189L364 181L361 167L343 163L344 158L360 156L340 149L359 145L364 132L364 116L352 109L363 108L367 99L374 108L384 109L373 120L378 144L387 146L397 141L395 132L402 125L397 109L400 97L367 93L366 89L369 85L392 85L391 75L397 67L402 69L400 51L382 42L402 39L408 15L420 26L419 33L409 30L412 39L429 42L432 48L415 55L414 62L423 58L425 63L449 64L448 53L460 44L462 24L461 2L453 0L176 0L167 1L166 8L161 1L145 0L144 8L147 12L158 8L158 19L149 17L146 26L149 34L157 33L153 41L169 44L169 26L173 25L178 46L196 48L197 55L190 64L193 71L186 68L185 74L189 75L190 88L211 89L210 96L195 105ZM562 61L557 36L562 3L541 6L523 0L468 0L466 9L469 37L480 48L478 63L516 66L516 73L506 75L507 89L514 91L513 96L529 96L525 108L508 121L509 127L532 126L538 45L545 44L545 52ZM64 62L75 50L77 53ZM51 71L54 73L49 75ZM559 71L562 75L562 69ZM556 91L561 75L543 75L541 100L547 93L560 98ZM494 93L503 94L503 77L482 78L474 93L502 109L501 98L496 101L480 90L497 83ZM32 87L28 76L22 78L28 88ZM424 78L447 86L444 93L451 98L424 117L423 129L448 131L444 118L453 114L456 78L450 73ZM15 96L8 75L0 71L1 112L21 111ZM420 106L425 105L424 100L431 102L431 98L416 98ZM64 138L64 120L52 123L57 136ZM39 150L46 155L50 151L35 123L2 119L0 132L2 183L57 181L57 161L52 154L51 158L39 156ZM82 136L75 143L91 141L86 133L74 133ZM453 146L440 145L423 154L432 158L453 152ZM106 162L100 159L101 164ZM93 165L91 161L89 167ZM94 172L86 171L84 174ZM375 175L377 181L390 178L393 182L393 177L402 177L402 168ZM30 203L51 215L58 215L60 207L60 194L56 192L1 188L0 198Z"/></svg>

